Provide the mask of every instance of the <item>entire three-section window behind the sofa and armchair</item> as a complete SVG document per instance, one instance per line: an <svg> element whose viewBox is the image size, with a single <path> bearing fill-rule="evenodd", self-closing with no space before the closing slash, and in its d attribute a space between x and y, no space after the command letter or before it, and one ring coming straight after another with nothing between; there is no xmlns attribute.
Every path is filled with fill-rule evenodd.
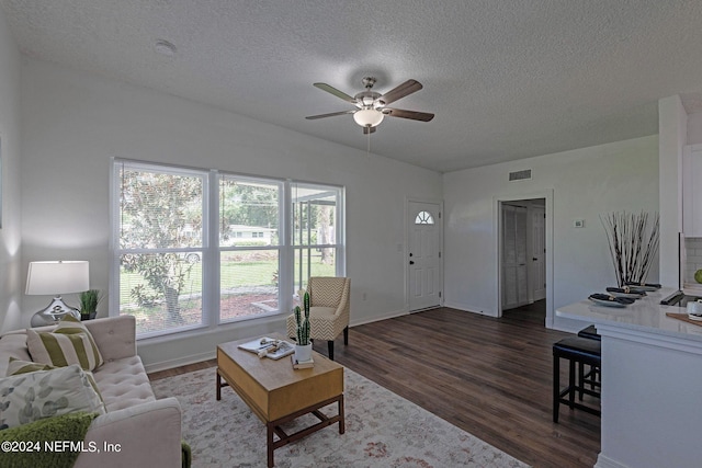
<svg viewBox="0 0 702 468"><path fill-rule="evenodd" d="M286 313L346 274L343 190L115 160L111 310L139 338Z"/></svg>

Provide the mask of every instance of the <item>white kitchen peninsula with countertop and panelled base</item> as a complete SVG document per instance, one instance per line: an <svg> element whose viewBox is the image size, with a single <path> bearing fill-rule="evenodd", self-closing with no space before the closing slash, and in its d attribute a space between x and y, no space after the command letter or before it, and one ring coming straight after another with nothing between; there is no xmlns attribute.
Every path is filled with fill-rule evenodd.
<svg viewBox="0 0 702 468"><path fill-rule="evenodd" d="M602 338L601 448L596 468L699 468L702 324L666 317L676 289L624 308L589 299L556 315L593 323Z"/></svg>

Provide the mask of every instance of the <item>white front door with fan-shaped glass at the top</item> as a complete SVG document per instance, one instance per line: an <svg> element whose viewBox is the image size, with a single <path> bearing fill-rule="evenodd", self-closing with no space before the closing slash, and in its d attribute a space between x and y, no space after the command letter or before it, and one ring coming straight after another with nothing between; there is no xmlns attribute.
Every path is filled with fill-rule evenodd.
<svg viewBox="0 0 702 468"><path fill-rule="evenodd" d="M441 305L441 213L439 204L408 203L409 310Z"/></svg>

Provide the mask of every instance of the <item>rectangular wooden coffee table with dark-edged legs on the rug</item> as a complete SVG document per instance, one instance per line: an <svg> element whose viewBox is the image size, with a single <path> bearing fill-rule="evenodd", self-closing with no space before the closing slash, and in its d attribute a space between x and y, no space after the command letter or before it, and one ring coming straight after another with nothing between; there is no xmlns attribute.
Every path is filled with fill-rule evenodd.
<svg viewBox="0 0 702 468"><path fill-rule="evenodd" d="M285 340L276 333L267 336ZM339 434L343 434L343 367L313 351L314 367L293 369L290 356L273 361L237 347L251 340L256 338L217 345L217 400L222 399L222 387L229 386L265 423L268 466L273 466L273 450L328 425L338 422ZM339 406L336 416L319 411L335 402ZM281 429L307 413L319 422L290 435Z"/></svg>

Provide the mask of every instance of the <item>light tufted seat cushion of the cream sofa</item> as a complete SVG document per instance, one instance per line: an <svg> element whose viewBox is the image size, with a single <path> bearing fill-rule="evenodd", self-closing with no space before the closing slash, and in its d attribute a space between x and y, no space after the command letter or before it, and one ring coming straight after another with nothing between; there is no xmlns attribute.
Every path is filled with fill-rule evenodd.
<svg viewBox="0 0 702 468"><path fill-rule="evenodd" d="M93 376L109 412L156 401L139 356L109 361Z"/></svg>

